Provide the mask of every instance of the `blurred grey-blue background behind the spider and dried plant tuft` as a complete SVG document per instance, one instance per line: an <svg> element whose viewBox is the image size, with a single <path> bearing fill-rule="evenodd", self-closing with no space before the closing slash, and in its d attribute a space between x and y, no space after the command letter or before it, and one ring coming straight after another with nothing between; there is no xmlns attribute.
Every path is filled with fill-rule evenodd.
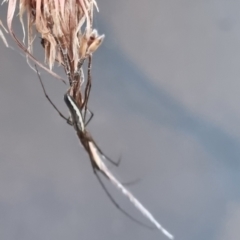
<svg viewBox="0 0 240 240"><path fill-rule="evenodd" d="M98 4L106 39L93 60L89 128L108 155L122 156L111 169L123 182L141 179L129 188L176 239L238 240L240 2ZM21 37L17 17L14 29ZM0 72L0 239L166 239L112 205L36 74L2 42ZM67 115L66 86L41 73Z"/></svg>

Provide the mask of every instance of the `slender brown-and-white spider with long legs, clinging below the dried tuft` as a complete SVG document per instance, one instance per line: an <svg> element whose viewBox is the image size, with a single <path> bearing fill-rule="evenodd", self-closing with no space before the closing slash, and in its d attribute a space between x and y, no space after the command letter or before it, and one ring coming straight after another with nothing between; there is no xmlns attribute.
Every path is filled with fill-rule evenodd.
<svg viewBox="0 0 240 240"><path fill-rule="evenodd" d="M62 55L64 55L65 53L62 52ZM66 118L59 110L58 108L55 106L55 104L52 102L52 100L49 98L49 96L46 93L45 87L43 85L40 73L38 72L37 66L36 67L36 71L38 74L38 78L40 80L43 92L45 94L45 97L48 99L48 101L50 102L50 104L54 107L54 109L58 112L58 114L66 120L66 122L73 126L73 128L76 131L76 134L82 144L82 146L84 147L84 149L86 150L86 152L88 153L88 156L90 158L91 164L92 164L92 168L93 168L93 172L95 174L95 176L97 177L100 185L102 186L102 188L104 189L105 193L107 194L107 196L109 197L109 199L112 201L112 203L116 206L116 208L118 208L123 214L125 214L128 218L130 218L131 220L133 220L134 222L150 228L150 229L159 229L160 231L162 231L163 234L165 234L168 238L173 239L173 235L171 235L166 229L164 229L159 222L153 217L153 215L133 196L133 194L127 190L122 183L120 183L115 177L114 175L109 171L109 169L107 168L107 166L105 165L105 163L103 162L102 159L106 159L109 162L111 162L112 164L114 164L115 166L118 166L120 163L120 159L118 162L114 162L113 160L111 160L109 157L107 157L102 150L98 147L98 145L96 144L96 142L94 141L94 139L92 138L91 134L87 131L86 127L89 124L89 122L91 121L92 117L93 117L93 113L88 109L87 104L88 104L88 100L89 100L89 96L90 96L90 90L91 90L91 64L92 64L92 56L89 55L88 56L88 71L87 71L87 83L85 86L85 90L84 90L84 98L82 98L82 93L80 92L80 87L82 84L82 81L84 81L84 77L83 77L83 71L82 71L82 64L83 62L79 64L79 68L77 73L74 75L74 78L72 79L72 75L69 72L68 66L69 66L69 62L67 60L67 55L64 56L64 67L65 67L65 72L68 75L69 78L69 83L70 83L70 88L67 91L67 93L64 95L64 101L69 109L70 112L70 117ZM78 80L75 80L78 79ZM83 80L82 80L83 79ZM86 115L87 112L90 112L90 118L88 120L86 120ZM119 204L113 199L113 197L111 196L111 194L108 192L107 188L105 187L105 185L103 184L100 176L98 175L98 172L100 172L104 177L106 177L115 187L117 187L117 189L119 189L123 195L125 195L130 202L133 203L133 205L146 217L148 218L151 223L154 224L155 227L151 227L148 226L144 223L142 223L141 221L135 219L134 217L132 217L129 213L127 213L123 208L121 208L119 206Z"/></svg>

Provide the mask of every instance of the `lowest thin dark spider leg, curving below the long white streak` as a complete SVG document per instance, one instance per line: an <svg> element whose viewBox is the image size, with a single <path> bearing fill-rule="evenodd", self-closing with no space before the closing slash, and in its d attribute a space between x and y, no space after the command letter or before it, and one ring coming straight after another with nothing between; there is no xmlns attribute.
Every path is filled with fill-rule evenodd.
<svg viewBox="0 0 240 240"><path fill-rule="evenodd" d="M99 170L107 179L108 177L104 174L104 172L102 172L101 170ZM97 177L98 182L100 183L101 187L103 188L104 192L107 194L108 198L110 199L110 201L113 203L113 205L120 211L122 212L125 216L127 216L129 219L131 219L132 221L136 222L137 224L149 228L149 229L155 229L153 227L150 227L144 223L142 223L141 221L135 219L133 216L131 216L129 213L127 213L123 208L121 208L119 206L119 204L115 201L115 199L112 197L112 195L109 193L109 191L107 190L106 186L104 185L102 179L100 178L100 176L97 174L96 169L93 169L93 172L95 174L95 176Z"/></svg>

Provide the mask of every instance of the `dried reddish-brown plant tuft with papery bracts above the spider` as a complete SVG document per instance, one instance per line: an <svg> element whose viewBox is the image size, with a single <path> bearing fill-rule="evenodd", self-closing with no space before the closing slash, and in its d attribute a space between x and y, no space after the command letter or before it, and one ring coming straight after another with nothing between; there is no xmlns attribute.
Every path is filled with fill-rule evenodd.
<svg viewBox="0 0 240 240"><path fill-rule="evenodd" d="M19 18L23 29L23 42L17 38L12 21L17 7L17 0L8 2L7 24L9 33L18 46L40 67L46 68L32 55L35 33L42 38L45 62L51 71L55 61L62 64L72 81L80 81L76 76L84 62L102 43L104 36L99 36L92 29L95 0L19 0ZM25 24L27 16L27 44L25 44ZM51 74L54 73L51 71Z"/></svg>

